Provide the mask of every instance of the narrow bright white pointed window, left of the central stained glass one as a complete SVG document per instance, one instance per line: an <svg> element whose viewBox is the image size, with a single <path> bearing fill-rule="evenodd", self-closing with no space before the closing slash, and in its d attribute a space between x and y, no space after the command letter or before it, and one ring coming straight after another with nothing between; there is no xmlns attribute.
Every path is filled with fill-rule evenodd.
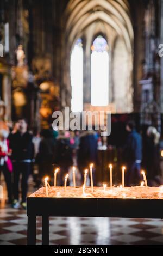
<svg viewBox="0 0 163 256"><path fill-rule="evenodd" d="M72 100L71 110L73 112L83 111L83 44L78 39L71 54L71 87Z"/></svg>

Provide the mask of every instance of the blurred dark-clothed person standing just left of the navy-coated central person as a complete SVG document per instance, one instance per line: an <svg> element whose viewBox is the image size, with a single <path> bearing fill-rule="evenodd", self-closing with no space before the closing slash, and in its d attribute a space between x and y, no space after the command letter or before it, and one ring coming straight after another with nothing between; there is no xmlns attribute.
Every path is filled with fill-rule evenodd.
<svg viewBox="0 0 163 256"><path fill-rule="evenodd" d="M55 164L60 168L58 173L59 185L64 184L65 174L73 164L73 147L70 143L70 133L60 131L56 143Z"/></svg>

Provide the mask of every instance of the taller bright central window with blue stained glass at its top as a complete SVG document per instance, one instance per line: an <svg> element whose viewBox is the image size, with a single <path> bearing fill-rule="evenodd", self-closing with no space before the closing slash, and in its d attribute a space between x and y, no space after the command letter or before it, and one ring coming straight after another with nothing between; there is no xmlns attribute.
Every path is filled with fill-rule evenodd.
<svg viewBox="0 0 163 256"><path fill-rule="evenodd" d="M109 46L98 36L91 46L91 105L109 104Z"/></svg>

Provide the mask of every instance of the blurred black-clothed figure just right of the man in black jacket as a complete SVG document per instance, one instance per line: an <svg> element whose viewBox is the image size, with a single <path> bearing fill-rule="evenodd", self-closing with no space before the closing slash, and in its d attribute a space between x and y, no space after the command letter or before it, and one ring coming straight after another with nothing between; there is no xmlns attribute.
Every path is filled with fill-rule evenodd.
<svg viewBox="0 0 163 256"><path fill-rule="evenodd" d="M53 162L55 154L55 139L52 130L41 131L39 153L36 156L36 163L39 165L40 180L44 175L53 174Z"/></svg>

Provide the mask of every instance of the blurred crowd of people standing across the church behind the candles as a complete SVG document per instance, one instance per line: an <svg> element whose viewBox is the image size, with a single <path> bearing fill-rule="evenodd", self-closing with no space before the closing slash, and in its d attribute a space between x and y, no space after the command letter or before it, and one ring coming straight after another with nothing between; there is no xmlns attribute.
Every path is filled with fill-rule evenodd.
<svg viewBox="0 0 163 256"><path fill-rule="evenodd" d="M159 140L160 135L154 127L147 129L145 142L135 130L134 121L126 125L128 138L123 147L123 157L127 164L126 185L142 180L141 168L147 170L149 185L152 181L160 185L159 172ZM90 163L98 164L98 142L100 137L95 131L60 131L37 130L28 131L26 119L20 119L10 133L0 130L0 174L3 173L8 191L8 203L12 207L22 206L26 209L28 178L33 174L35 186L41 186L45 175L54 176L54 169L59 167L58 185L63 185L65 174L76 166L80 180L83 171ZM34 169L38 172L35 175ZM95 169L93 171L95 180ZM52 176L52 177L53 177ZM21 200L20 200L21 180ZM150 184L151 182L151 184ZM96 180L94 181L96 185ZM71 184L70 184L71 185ZM21 202L21 203L20 203Z"/></svg>

